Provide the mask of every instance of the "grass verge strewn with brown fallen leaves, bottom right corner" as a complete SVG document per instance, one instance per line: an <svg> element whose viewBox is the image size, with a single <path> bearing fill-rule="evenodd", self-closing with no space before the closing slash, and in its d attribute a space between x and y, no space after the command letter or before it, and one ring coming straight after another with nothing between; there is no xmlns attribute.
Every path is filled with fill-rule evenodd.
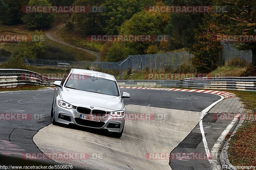
<svg viewBox="0 0 256 170"><path fill-rule="evenodd" d="M246 109L243 125L231 137L228 148L228 159L234 166L256 166L256 92L230 91L240 97Z"/></svg>

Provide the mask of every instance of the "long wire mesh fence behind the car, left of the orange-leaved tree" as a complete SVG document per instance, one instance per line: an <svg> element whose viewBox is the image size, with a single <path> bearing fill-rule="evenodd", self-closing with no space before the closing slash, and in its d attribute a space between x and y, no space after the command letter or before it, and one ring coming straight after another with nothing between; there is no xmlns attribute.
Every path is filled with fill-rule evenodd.
<svg viewBox="0 0 256 170"><path fill-rule="evenodd" d="M189 52L152 54L152 55L129 55L120 62L97 62L97 61L68 61L50 60L39 58L25 58L24 63L34 66L54 66L57 68L80 68L80 69L100 69L100 70L126 70L131 68L135 71L144 69L164 70L164 68L177 68L183 61L189 61L193 55ZM10 57L0 57L0 62L5 63Z"/></svg>

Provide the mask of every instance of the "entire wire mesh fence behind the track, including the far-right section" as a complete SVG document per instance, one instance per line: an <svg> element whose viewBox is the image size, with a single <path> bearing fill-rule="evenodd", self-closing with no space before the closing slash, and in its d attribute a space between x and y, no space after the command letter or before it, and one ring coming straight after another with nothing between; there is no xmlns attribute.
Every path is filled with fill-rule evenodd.
<svg viewBox="0 0 256 170"><path fill-rule="evenodd" d="M223 65L230 59L239 57L252 62L251 50L238 50L232 47L231 44L222 43L223 50L220 52L219 65ZM67 60L50 60L50 59L31 59L25 58L24 63L34 66L51 66L57 68L80 68L90 70L166 70L177 69L180 65L187 61L189 65L190 58L194 55L189 52L173 52L165 54L151 54L151 55L129 55L120 62L92 62L92 61L67 61ZM0 57L0 63L5 63L10 60L10 57Z"/></svg>

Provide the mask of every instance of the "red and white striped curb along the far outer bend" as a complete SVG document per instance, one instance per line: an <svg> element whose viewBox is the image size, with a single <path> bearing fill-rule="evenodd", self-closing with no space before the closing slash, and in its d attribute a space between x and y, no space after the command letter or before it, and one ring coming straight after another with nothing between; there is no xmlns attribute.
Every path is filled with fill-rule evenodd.
<svg viewBox="0 0 256 170"><path fill-rule="evenodd" d="M147 89L147 90L167 90L167 91L178 91L178 92L198 92L198 93L210 93L210 94L219 94L225 98L235 97L234 93L215 91L215 90L198 90L198 89L176 89L176 88L155 88L155 87L119 87L126 89Z"/></svg>

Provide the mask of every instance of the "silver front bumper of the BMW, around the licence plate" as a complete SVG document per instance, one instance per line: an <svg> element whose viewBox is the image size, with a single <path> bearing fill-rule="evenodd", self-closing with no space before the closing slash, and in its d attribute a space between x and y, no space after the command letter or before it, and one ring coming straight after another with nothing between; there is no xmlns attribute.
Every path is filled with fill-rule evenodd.
<svg viewBox="0 0 256 170"><path fill-rule="evenodd" d="M107 129L109 132L121 132L124 126L125 114L122 117L115 117L109 114L105 116L94 116L91 114L81 114L78 113L76 108L66 109L60 107L57 103L54 109L54 119L56 122L63 124L75 124L77 126L83 126L94 129ZM64 115L63 118L60 116ZM89 121L80 119L80 115L92 116L101 118L100 122Z"/></svg>

